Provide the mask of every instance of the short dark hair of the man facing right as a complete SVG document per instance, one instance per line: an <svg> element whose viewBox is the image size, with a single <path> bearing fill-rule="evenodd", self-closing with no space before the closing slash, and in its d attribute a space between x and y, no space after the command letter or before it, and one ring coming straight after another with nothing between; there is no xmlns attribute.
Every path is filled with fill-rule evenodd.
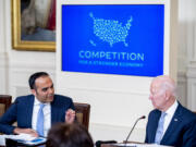
<svg viewBox="0 0 196 147"><path fill-rule="evenodd" d="M41 76L49 76L49 74L46 72L37 72L30 75L30 77L28 78L30 89L35 89L35 81Z"/></svg>

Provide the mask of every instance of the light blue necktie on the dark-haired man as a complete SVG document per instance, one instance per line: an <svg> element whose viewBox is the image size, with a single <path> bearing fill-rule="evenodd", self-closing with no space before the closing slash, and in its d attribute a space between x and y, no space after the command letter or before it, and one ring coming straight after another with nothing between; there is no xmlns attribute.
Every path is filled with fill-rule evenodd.
<svg viewBox="0 0 196 147"><path fill-rule="evenodd" d="M42 109L44 109L45 105L40 103L39 106L40 106L40 108L39 108L39 111L38 111L38 114L37 114L36 128L37 128L37 133L39 134L39 136L44 136L45 115L44 115Z"/></svg>

